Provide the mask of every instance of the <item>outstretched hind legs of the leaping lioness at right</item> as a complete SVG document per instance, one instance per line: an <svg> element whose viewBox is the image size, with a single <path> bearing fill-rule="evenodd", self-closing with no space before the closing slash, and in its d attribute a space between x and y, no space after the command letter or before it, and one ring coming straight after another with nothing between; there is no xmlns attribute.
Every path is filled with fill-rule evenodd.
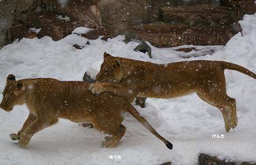
<svg viewBox="0 0 256 165"><path fill-rule="evenodd" d="M217 95L215 93L214 95L209 95L209 97L207 97L206 94L201 94L201 93L197 93L197 94L206 103L220 109L223 115L225 129L227 132L229 132L231 128L237 127L237 124L238 124L237 108L235 106L234 98L230 98L229 96L227 96L227 94L223 96L223 95Z"/></svg>

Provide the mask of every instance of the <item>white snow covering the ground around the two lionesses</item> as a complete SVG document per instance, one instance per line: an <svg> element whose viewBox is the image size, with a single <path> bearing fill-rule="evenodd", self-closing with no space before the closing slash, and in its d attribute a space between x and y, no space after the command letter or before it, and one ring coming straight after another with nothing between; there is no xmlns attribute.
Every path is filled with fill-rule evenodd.
<svg viewBox="0 0 256 165"><path fill-rule="evenodd" d="M152 58L132 51L138 43L123 42L124 36L107 41L88 40L75 33L53 41L23 38L0 50L0 91L8 74L16 79L51 77L61 81L82 81L85 71L95 77L104 52L154 63L185 60L218 60L240 64L256 73L256 14L239 22L242 33L226 46L194 46L192 52L177 48L152 48ZM75 31L85 32L86 28ZM89 41L90 45L86 45ZM85 46L76 49L73 44ZM148 43L149 44L149 43ZM188 48L191 46L180 46ZM209 49L213 53L209 54ZM198 57L191 57L191 55ZM206 55L205 55L206 54ZM205 55L205 56L203 56ZM187 57L187 58L183 58ZM190 58L189 58L190 57ZM94 128L65 119L43 129L26 147L19 147L9 134L17 133L28 116L25 105L7 113L0 111L0 164L197 164L200 153L232 162L256 162L256 80L236 71L225 71L227 93L237 101L238 127L226 132L219 109L201 101L196 94L174 99L147 98L146 107L134 107L161 136L173 143L173 150L152 135L130 114L126 114L126 134L115 148L102 148L105 135ZM2 96L0 96L2 100ZM214 138L214 136L216 138ZM224 138L221 138L221 136ZM220 138L217 138L220 137ZM113 157L111 159L111 156Z"/></svg>

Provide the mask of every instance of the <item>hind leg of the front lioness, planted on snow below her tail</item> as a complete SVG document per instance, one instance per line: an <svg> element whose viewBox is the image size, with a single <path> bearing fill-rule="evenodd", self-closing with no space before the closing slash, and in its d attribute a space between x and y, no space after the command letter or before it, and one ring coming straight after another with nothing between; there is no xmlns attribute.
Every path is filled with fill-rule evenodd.
<svg viewBox="0 0 256 165"><path fill-rule="evenodd" d="M105 137L105 142L101 144L102 147L104 148L112 148L115 147L116 144L121 140L121 138L124 136L126 132L125 126L121 124L119 127L118 131L115 134L110 134L111 136L106 136Z"/></svg>

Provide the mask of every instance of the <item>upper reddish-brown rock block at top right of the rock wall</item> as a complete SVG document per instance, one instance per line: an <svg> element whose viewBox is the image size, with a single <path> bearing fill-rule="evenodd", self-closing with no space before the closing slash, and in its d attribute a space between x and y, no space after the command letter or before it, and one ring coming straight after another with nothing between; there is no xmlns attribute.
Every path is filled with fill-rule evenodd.
<svg viewBox="0 0 256 165"><path fill-rule="evenodd" d="M229 26L238 20L238 8L213 5L162 7L163 20L175 25L193 27Z"/></svg>

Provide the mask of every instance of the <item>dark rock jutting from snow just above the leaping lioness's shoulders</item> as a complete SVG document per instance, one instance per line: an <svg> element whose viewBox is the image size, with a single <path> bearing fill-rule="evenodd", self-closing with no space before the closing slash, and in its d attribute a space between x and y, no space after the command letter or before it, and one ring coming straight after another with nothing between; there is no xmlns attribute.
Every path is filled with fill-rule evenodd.
<svg viewBox="0 0 256 165"><path fill-rule="evenodd" d="M151 48L150 46L140 37L138 36L133 30L131 29L123 29L118 32L119 35L125 35L125 43L131 42L131 41L139 41L140 44L137 46L134 51L140 51L143 53L148 53L149 57L151 57Z"/></svg>

